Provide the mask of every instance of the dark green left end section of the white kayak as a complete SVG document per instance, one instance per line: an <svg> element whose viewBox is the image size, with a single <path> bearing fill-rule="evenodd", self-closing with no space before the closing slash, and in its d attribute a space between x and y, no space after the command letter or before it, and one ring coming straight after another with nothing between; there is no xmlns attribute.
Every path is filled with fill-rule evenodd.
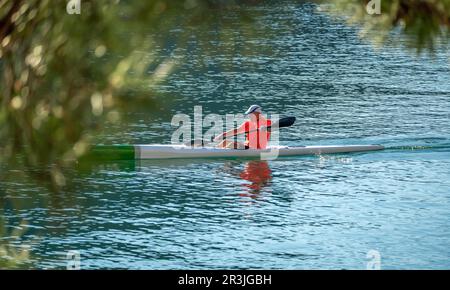
<svg viewBox="0 0 450 290"><path fill-rule="evenodd" d="M134 160L135 146L97 145L83 158L87 160Z"/></svg>

